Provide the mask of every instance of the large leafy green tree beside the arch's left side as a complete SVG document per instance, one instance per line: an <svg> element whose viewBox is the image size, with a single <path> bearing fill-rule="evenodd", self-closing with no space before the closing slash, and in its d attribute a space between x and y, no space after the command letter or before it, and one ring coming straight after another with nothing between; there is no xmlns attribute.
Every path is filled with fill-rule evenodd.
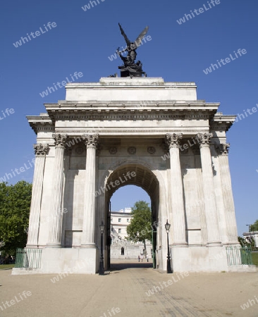
<svg viewBox="0 0 258 317"><path fill-rule="evenodd" d="M27 242L32 184L21 180L16 185L0 183L0 251L15 255Z"/></svg>

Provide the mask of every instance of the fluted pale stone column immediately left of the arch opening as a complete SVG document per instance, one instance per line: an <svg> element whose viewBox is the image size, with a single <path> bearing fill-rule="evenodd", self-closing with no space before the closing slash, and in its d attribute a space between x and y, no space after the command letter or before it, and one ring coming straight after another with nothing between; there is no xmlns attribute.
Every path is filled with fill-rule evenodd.
<svg viewBox="0 0 258 317"><path fill-rule="evenodd" d="M95 247L95 190L96 190L96 150L99 135L83 135L87 147L85 170L84 213L82 227L82 247Z"/></svg>

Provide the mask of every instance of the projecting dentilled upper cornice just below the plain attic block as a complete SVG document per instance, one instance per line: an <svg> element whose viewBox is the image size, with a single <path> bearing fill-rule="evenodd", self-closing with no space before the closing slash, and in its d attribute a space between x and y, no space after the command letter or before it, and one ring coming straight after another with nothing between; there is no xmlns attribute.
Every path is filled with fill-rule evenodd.
<svg viewBox="0 0 258 317"><path fill-rule="evenodd" d="M183 119L192 120L212 118L219 103L207 104L205 101L180 102L167 101L157 104L156 102L145 103L129 102L122 103L59 103L45 104L51 120L169 120Z"/></svg>

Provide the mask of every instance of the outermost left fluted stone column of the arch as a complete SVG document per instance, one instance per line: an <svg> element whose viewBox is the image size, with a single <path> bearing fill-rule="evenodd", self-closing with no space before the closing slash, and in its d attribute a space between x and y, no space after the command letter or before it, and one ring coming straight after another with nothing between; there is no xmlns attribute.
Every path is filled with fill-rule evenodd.
<svg viewBox="0 0 258 317"><path fill-rule="evenodd" d="M32 199L30 204L30 222L29 232L27 235L27 248L38 246L44 165L46 161L46 154L49 151L49 144L34 144L33 147L36 158L32 185Z"/></svg>

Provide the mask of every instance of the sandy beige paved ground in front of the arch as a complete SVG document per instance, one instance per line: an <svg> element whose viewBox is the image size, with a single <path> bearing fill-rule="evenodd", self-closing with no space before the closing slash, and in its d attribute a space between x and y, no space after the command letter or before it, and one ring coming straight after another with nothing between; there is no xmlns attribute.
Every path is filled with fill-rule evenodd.
<svg viewBox="0 0 258 317"><path fill-rule="evenodd" d="M0 316L258 317L258 272L165 274L146 260L128 262L114 263L104 276L70 274L58 282L51 282L57 275L2 270Z"/></svg>

